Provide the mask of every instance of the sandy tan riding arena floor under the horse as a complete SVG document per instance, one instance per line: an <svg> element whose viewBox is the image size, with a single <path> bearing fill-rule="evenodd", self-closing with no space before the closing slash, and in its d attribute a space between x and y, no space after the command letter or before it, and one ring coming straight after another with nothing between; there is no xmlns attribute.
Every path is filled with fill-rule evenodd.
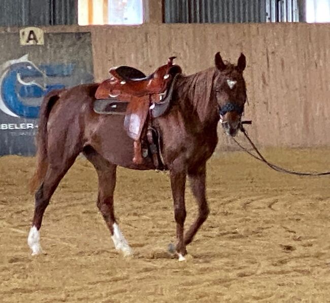
<svg viewBox="0 0 330 303"><path fill-rule="evenodd" d="M299 170L330 170L330 150L269 150ZM0 158L1 302L330 302L330 177L274 172L241 152L208 165L211 214L186 262L175 239L167 174L118 169L115 203L135 251L124 258L95 200L97 179L79 159L62 180L41 229L45 253L26 243L35 159ZM195 204L187 190L187 223Z"/></svg>

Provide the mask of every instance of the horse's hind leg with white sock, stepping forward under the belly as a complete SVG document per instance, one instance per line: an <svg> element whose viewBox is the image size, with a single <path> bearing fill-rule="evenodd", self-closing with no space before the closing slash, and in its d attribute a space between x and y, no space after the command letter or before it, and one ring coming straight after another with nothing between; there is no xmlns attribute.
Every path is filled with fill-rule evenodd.
<svg viewBox="0 0 330 303"><path fill-rule="evenodd" d="M110 230L115 248L116 250L120 250L125 256L131 255L132 250L122 235L114 214L113 194L116 186L117 166L111 164L90 147L84 149L84 155L96 169L98 175L98 197L96 204Z"/></svg>

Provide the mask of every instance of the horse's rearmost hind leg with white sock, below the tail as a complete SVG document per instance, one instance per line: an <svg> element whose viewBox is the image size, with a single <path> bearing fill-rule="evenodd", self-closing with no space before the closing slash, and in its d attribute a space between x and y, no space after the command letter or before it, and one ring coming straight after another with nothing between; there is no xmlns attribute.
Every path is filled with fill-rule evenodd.
<svg viewBox="0 0 330 303"><path fill-rule="evenodd" d="M77 156L71 157L58 165L50 164L47 168L44 181L36 192L35 214L32 220L32 227L27 237L27 243L32 250L32 255L41 252L39 230L49 200L55 192L60 180L75 162L76 157Z"/></svg>

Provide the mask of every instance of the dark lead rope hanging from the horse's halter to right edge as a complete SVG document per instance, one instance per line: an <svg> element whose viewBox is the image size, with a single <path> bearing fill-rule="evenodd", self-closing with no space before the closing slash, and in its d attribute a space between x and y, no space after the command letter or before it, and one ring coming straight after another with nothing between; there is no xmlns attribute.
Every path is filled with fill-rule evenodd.
<svg viewBox="0 0 330 303"><path fill-rule="evenodd" d="M246 123L246 124L250 124L250 123ZM311 173L311 172L299 172L299 171L294 171L294 170L289 170L289 169L285 169L282 168L280 166L277 166L273 163L268 162L265 157L263 157L258 148L255 146L255 144L252 142L252 140L250 139L250 137L248 136L246 130L244 129L243 125L241 125L240 127L241 132L244 134L244 136L248 139L248 141L250 142L251 146L253 147L253 149L255 150L255 152L257 153L257 155L260 157L257 157L256 155L252 154L251 152L249 152L249 150L247 150L244 146L242 146L234 137L233 140L236 142L236 144L241 147L246 153L248 153L250 156L252 156L254 159L259 160L263 163L266 163L267 166L269 166L270 168L278 171L278 172L284 172L287 174L292 174L292 175L299 175L299 176L325 176L325 175L330 175L330 171L327 172L321 172L321 173Z"/></svg>

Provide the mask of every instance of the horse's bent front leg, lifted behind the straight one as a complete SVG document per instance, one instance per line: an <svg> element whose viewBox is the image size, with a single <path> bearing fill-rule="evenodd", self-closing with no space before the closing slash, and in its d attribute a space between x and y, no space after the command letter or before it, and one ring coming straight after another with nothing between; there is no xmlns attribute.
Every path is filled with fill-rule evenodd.
<svg viewBox="0 0 330 303"><path fill-rule="evenodd" d="M188 178L190 181L192 194L194 195L199 207L199 213L197 215L196 220L191 224L189 230L185 234L185 245L188 245L192 241L193 237L195 236L201 225L204 223L204 221L207 219L210 212L205 193L205 164L188 170Z"/></svg>

